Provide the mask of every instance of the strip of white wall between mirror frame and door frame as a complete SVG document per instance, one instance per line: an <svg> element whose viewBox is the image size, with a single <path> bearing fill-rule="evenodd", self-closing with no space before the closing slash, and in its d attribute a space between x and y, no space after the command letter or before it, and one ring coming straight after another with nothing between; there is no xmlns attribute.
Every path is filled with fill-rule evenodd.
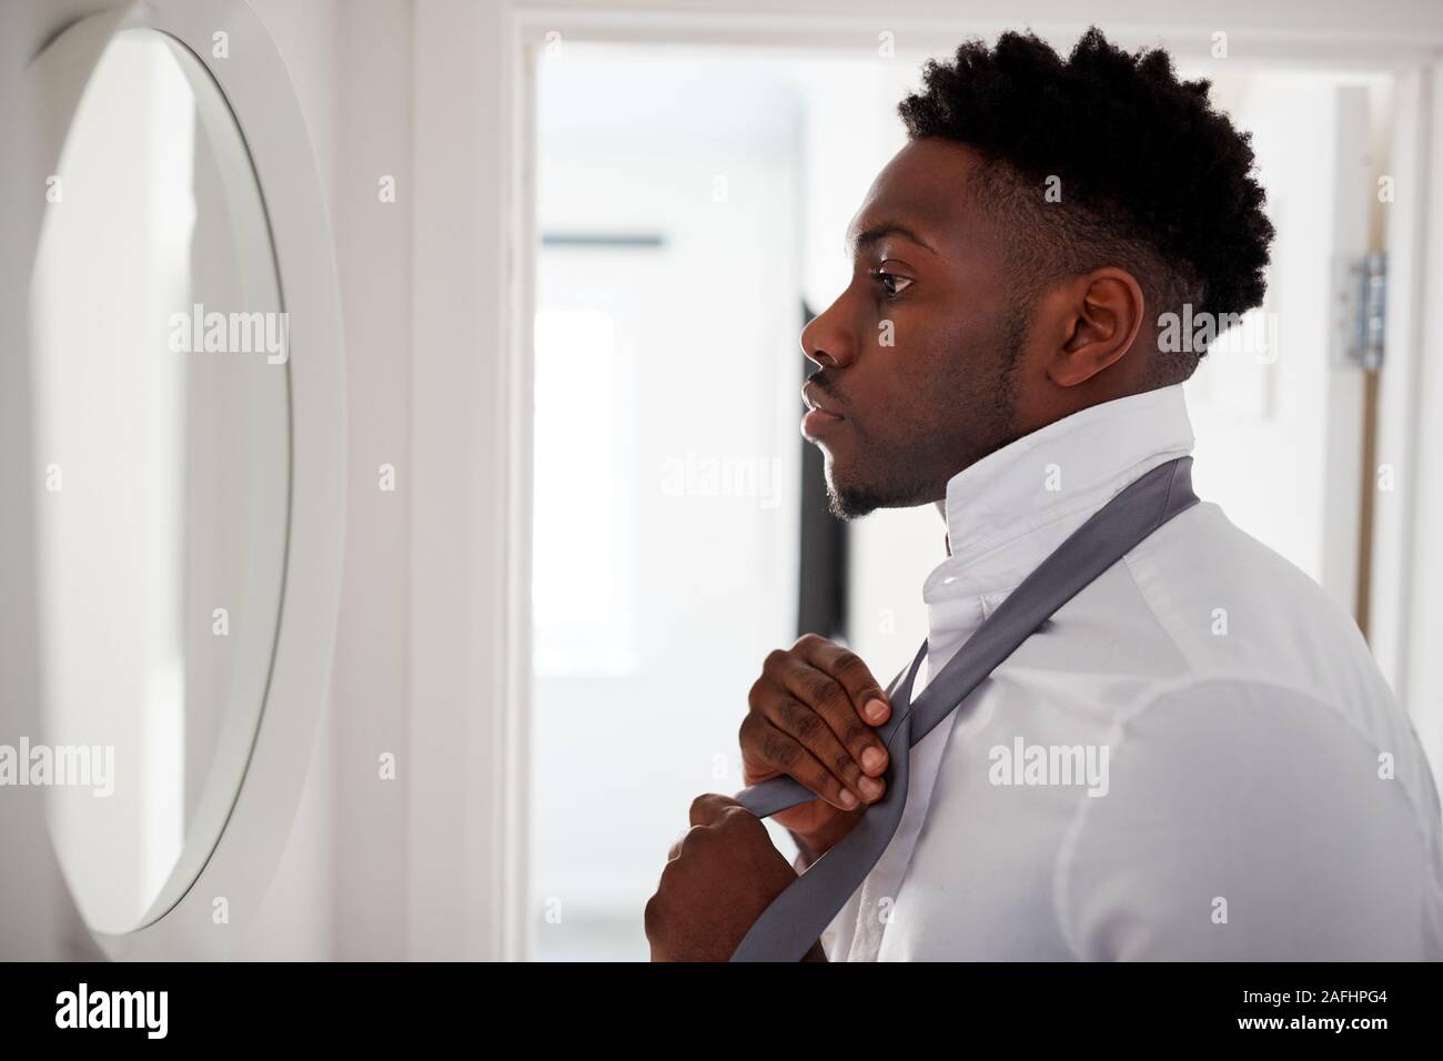
<svg viewBox="0 0 1443 1061"><path fill-rule="evenodd" d="M351 471L330 699L286 855L241 957L404 959L411 12L390 0L253 6L291 71L330 204ZM380 201L382 175L395 178L395 202ZM382 463L398 469L395 492L378 488ZM380 778L385 752L403 764L395 781Z"/></svg>

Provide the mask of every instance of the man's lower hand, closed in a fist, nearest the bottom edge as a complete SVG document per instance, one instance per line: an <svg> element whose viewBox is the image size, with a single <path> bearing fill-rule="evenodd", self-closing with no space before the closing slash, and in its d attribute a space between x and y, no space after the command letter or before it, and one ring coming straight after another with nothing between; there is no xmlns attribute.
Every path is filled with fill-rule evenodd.
<svg viewBox="0 0 1443 1061"><path fill-rule="evenodd" d="M691 803L691 830L671 847L644 915L652 961L727 961L797 870L762 820L729 795ZM821 957L820 944L808 954Z"/></svg>

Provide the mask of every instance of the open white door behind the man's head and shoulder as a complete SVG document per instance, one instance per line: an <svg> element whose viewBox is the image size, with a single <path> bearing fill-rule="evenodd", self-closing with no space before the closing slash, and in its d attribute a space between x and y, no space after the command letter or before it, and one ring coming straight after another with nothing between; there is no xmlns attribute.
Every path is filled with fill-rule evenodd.
<svg viewBox="0 0 1443 1061"><path fill-rule="evenodd" d="M1371 94L1384 79L1218 78L1253 133L1277 228L1264 305L1219 338L1186 384L1201 497L1317 580L1359 625L1371 452L1369 370L1354 341L1375 169Z"/></svg>

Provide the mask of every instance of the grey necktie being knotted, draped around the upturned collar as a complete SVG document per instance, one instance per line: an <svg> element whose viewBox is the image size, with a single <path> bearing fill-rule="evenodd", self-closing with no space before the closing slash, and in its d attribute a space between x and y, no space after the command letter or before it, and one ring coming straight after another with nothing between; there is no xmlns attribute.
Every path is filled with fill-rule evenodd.
<svg viewBox="0 0 1443 1061"><path fill-rule="evenodd" d="M906 805L911 749L952 713L993 670L1092 579L1177 512L1195 505L1192 458L1153 468L1094 512L1019 585L912 700L912 681L926 658L926 641L912 665L887 689L892 717L877 729L887 748L886 793L870 804L837 844L808 866L762 911L732 954L733 961L799 961L837 911L882 857ZM900 687L898 683L900 681ZM759 818L815 800L789 777L745 788L736 800Z"/></svg>

